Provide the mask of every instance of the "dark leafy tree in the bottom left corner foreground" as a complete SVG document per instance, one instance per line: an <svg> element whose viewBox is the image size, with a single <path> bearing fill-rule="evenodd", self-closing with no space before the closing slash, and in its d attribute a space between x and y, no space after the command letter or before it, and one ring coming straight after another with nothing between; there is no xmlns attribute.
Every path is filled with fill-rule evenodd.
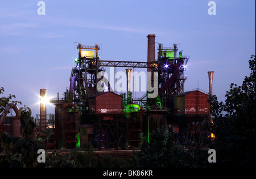
<svg viewBox="0 0 256 179"><path fill-rule="evenodd" d="M23 110L23 107L20 107L19 116L20 134L22 134L22 138L15 138L6 132L1 132L1 151L5 153L10 153L11 151L10 155L6 156L4 161L9 160L9 167L11 168L35 167L37 164L37 151L43 148L43 144L33 134L34 122L31 118L30 108L26 107Z"/></svg>

